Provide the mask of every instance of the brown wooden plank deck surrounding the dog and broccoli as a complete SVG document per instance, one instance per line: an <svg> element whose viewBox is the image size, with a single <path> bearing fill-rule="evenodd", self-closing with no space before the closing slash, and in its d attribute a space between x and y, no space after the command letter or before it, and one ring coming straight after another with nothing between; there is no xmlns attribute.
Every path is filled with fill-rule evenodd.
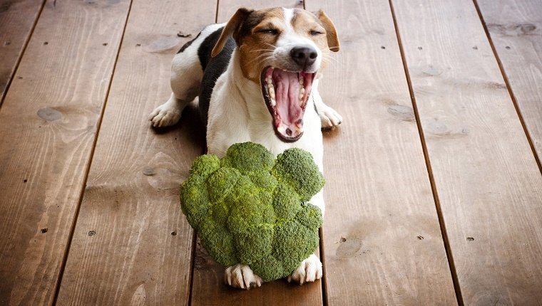
<svg viewBox="0 0 542 306"><path fill-rule="evenodd" d="M170 63L238 6L324 9L324 278L223 284L178 204ZM188 36L188 37L185 37ZM0 305L542 305L542 0L0 0Z"/></svg>

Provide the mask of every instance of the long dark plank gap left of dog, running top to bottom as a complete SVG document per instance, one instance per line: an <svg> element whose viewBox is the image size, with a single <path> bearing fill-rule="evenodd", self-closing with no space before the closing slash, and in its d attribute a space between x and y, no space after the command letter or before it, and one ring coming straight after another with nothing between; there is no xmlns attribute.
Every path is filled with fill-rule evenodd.
<svg viewBox="0 0 542 306"><path fill-rule="evenodd" d="M111 78L109 78L109 84L108 84L107 91L106 91L106 99L103 101L103 105L102 105L101 112L100 112L100 117L98 118L98 123L96 124L96 133L95 133L96 137L94 137L94 142L92 144L91 154L88 157L88 164L87 164L87 167L85 169L85 179L83 179L83 186L81 187L81 194L79 194L79 199L77 201L77 206L76 206L76 212L75 212L75 214L73 216L73 222L71 223L70 234L68 236L68 243L66 243L66 250L64 250L64 257L62 258L60 271L58 273L58 281L56 282L52 305L56 305L56 300L58 299L58 292L60 292L62 278L63 278L63 275L64 275L64 269L66 268L66 262L68 261L68 255L70 253L70 247L71 247L71 241L73 239L73 233L75 232L75 229L76 229L77 219L78 219L78 216L79 216L79 211L81 209L81 202L83 201L83 195L85 194L85 191L86 191L86 182L88 180L88 173L91 171L92 161L93 161L93 157L94 157L94 151L96 150L96 144L98 143L98 137L100 137L100 130L101 130L101 124L102 124L102 120L103 120L103 113L106 111L107 101L109 99L109 93L110 93L110 90L111 90L111 84L113 83L113 78L115 76L115 71L116 71L116 68L117 68L118 56L121 53L121 47L123 46L123 41L124 41L124 34L126 33L126 26L128 25L128 18L130 17L130 12L132 10L132 3L133 3L133 0L131 0L130 4L128 4L128 13L126 14L126 19L124 20L123 33L122 33L121 39L120 39L120 41L118 43L117 54L116 54L116 57L115 57L115 63L113 64L113 70L111 72ZM42 7L42 9L43 9L43 7ZM41 14L41 11L40 11L40 14ZM36 21L37 21L37 19L36 19Z"/></svg>

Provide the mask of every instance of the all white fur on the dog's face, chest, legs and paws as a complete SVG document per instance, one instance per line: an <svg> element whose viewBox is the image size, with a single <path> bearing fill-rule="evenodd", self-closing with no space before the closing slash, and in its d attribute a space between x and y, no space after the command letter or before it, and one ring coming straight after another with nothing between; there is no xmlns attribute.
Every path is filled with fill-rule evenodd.
<svg viewBox="0 0 542 306"><path fill-rule="evenodd" d="M298 36L291 26L293 11L285 9L287 33L277 41L273 58L282 63L290 58L292 46L311 46L317 50L318 57L311 70L318 70L322 61L322 51L308 38ZM200 43L223 24L211 25L205 28L200 37L192 45L178 53L173 59L171 88L173 94L163 105L157 107L150 115L154 126L175 124L183 108L193 100L200 91L202 78L201 66L198 59ZM277 65L281 66L281 65ZM282 66L284 68L284 66ZM331 107L322 102L318 93L318 80L312 85L312 93L308 99L303 117L304 134L296 142L282 142L272 130L272 116L262 98L260 86L253 83L242 74L240 56L233 51L227 70L215 83L210 99L207 127L208 152L223 157L230 145L237 142L256 142L267 147L275 156L291 147L305 149L312 154L320 171L323 167L323 147L321 127L337 125L342 117ZM317 107L318 113L315 110ZM319 191L310 201L318 206L324 214L323 191ZM234 265L225 270L225 282L233 287L258 287L262 279L252 273L247 265ZM303 284L322 277L322 263L315 255L303 260L289 277Z"/></svg>

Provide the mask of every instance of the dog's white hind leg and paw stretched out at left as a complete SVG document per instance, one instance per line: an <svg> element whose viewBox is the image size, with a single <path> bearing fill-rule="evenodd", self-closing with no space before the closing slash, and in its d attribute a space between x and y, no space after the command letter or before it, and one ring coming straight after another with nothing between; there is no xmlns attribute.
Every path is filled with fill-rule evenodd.
<svg viewBox="0 0 542 306"><path fill-rule="evenodd" d="M200 92L203 70L198 58L198 46L203 38L183 47L180 53L173 58L171 67L171 94L169 100L163 105L156 107L150 113L149 120L154 127L167 127L175 125L180 119L180 114Z"/></svg>

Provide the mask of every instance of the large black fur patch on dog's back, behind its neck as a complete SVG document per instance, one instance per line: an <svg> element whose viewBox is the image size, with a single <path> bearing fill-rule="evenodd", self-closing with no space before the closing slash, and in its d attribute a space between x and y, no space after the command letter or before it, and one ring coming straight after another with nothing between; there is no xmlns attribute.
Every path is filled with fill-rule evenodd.
<svg viewBox="0 0 542 306"><path fill-rule="evenodd" d="M218 53L214 58L211 57L211 52L215 48L215 44L220 38L223 28L211 33L205 38L198 49L198 57L200 58L201 67L203 68L203 80L201 82L200 89L200 116L201 120L207 127L209 102L211 100L211 94L215 88L216 80L227 69L227 65L230 63L233 49L235 49L235 41L233 38L228 38L222 52Z"/></svg>

